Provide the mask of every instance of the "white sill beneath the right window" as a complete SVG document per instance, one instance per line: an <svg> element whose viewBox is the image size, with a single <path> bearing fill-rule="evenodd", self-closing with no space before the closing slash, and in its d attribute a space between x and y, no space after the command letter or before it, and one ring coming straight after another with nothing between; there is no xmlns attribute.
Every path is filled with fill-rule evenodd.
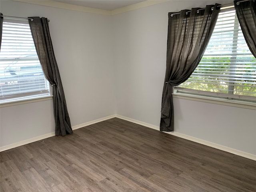
<svg viewBox="0 0 256 192"><path fill-rule="evenodd" d="M173 93L172 95L173 95L173 98L256 110L256 102L229 100L225 98L214 98L210 96L201 96L201 95L186 94L186 93Z"/></svg>

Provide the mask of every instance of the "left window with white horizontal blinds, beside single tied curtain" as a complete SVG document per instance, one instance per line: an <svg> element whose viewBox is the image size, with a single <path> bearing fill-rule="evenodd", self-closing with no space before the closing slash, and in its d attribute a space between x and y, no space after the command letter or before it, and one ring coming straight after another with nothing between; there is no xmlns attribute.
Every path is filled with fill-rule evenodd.
<svg viewBox="0 0 256 192"><path fill-rule="evenodd" d="M48 96L28 21L4 20L0 51L0 102ZM22 22L22 23L20 23Z"/></svg>

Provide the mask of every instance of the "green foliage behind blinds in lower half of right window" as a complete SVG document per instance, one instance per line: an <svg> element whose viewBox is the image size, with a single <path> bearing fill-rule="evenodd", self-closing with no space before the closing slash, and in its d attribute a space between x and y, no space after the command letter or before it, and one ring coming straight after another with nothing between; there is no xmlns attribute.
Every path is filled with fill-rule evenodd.
<svg viewBox="0 0 256 192"><path fill-rule="evenodd" d="M256 96L255 79L254 57L237 57L236 63L231 63L231 57L204 57L188 81L179 87L230 94L228 88L233 86L235 95Z"/></svg>

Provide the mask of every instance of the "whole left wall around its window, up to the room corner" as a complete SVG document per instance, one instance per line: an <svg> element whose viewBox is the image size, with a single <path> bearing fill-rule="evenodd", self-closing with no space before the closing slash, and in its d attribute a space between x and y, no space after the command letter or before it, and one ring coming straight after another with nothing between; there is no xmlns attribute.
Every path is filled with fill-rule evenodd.
<svg viewBox="0 0 256 192"><path fill-rule="evenodd" d="M72 126L116 113L110 16L14 1L1 1L0 10L50 19ZM0 146L54 132L52 113L49 101L1 108Z"/></svg>

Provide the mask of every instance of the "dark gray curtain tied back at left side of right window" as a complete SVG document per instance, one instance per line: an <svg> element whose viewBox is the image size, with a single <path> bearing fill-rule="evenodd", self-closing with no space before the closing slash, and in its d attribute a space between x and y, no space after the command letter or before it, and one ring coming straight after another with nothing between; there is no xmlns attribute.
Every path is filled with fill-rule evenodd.
<svg viewBox="0 0 256 192"><path fill-rule="evenodd" d="M168 14L166 74L160 131L174 130L173 86L185 82L200 62L218 18L218 5L208 5L199 12L200 8L192 8L191 12L182 10L180 14Z"/></svg>

